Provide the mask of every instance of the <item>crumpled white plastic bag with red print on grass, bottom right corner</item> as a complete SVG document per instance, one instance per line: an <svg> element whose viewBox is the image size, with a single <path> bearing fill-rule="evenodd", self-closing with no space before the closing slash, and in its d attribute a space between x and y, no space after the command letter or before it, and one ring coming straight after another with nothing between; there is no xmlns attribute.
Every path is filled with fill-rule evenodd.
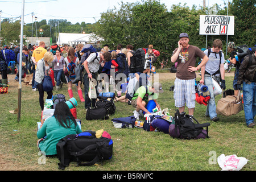
<svg viewBox="0 0 256 182"><path fill-rule="evenodd" d="M245 164L247 164L247 159L237 155L228 155L225 156L221 154L218 156L218 165L222 168L221 171L240 171Z"/></svg>

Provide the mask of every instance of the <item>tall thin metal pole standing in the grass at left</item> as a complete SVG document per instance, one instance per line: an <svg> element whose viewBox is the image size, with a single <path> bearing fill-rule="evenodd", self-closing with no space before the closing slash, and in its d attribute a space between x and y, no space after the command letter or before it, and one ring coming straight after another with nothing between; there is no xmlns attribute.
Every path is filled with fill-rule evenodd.
<svg viewBox="0 0 256 182"><path fill-rule="evenodd" d="M21 94L22 94L22 48L23 48L23 25L24 25L24 0L22 1L22 20L20 24L20 48L19 48L19 85L18 85L18 122L20 121Z"/></svg>

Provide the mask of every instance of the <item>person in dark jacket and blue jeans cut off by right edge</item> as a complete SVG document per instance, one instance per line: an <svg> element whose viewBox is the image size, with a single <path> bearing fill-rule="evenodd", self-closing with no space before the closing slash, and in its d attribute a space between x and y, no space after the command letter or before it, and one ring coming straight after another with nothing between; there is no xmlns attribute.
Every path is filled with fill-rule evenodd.
<svg viewBox="0 0 256 182"><path fill-rule="evenodd" d="M247 127L254 127L256 114L256 52L243 59L238 75L237 88L242 90L243 84L243 106L245 107L245 122Z"/></svg>

